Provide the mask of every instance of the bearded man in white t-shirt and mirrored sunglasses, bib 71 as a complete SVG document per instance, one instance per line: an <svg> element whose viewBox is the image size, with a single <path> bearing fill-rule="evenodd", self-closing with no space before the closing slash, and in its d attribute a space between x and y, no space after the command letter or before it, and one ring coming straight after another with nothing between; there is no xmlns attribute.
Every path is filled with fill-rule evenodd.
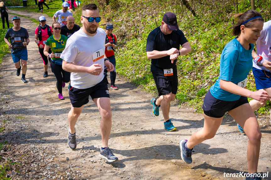
<svg viewBox="0 0 271 180"><path fill-rule="evenodd" d="M108 81L103 69L106 66L107 71L113 71L114 66L104 54L106 33L103 29L98 28L100 19L95 4L85 5L82 8L81 16L83 28L68 39L66 48L60 56L63 59L62 68L72 72L72 87L69 91L72 108L68 113L68 145L71 149L76 149L74 126L84 105L89 102L90 95L101 114L102 147L99 157L108 162L115 162L118 161L118 158L108 147L112 121Z"/></svg>

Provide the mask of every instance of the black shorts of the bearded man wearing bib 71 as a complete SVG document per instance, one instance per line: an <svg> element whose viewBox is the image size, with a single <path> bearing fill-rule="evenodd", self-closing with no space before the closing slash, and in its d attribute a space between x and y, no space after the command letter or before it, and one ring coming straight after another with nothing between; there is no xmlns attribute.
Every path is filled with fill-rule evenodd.
<svg viewBox="0 0 271 180"><path fill-rule="evenodd" d="M89 102L89 95L93 99L101 98L101 97L108 97L109 98L109 91L107 87L108 81L106 76L104 79L87 89L77 89L71 87L69 90L69 96L73 107L81 107Z"/></svg>

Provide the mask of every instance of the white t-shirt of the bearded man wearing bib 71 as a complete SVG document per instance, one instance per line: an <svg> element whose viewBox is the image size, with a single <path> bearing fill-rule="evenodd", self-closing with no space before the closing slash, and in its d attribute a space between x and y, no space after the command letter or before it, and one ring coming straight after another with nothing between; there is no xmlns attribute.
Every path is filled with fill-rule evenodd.
<svg viewBox="0 0 271 180"><path fill-rule="evenodd" d="M100 64L101 67L104 67L103 54L106 50L105 40L106 33L102 28L97 29L95 36L87 35L81 28L79 31L73 33L67 40L66 47L60 58L68 63L74 63L80 66L89 67L92 64ZM99 53L97 52L98 50L100 50ZM71 73L71 85L78 89L90 88L101 82L104 76L104 70L102 70L100 75Z"/></svg>

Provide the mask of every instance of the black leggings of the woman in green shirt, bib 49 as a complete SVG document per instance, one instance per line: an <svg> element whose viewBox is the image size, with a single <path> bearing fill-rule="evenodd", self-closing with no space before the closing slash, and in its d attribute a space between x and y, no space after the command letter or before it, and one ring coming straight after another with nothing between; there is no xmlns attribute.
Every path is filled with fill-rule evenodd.
<svg viewBox="0 0 271 180"><path fill-rule="evenodd" d="M62 93L62 81L65 83L68 83L70 81L71 73L68 71L64 71L62 69L62 65L57 65L52 60L50 61L50 63L51 63L52 72L55 74L57 78L58 93Z"/></svg>

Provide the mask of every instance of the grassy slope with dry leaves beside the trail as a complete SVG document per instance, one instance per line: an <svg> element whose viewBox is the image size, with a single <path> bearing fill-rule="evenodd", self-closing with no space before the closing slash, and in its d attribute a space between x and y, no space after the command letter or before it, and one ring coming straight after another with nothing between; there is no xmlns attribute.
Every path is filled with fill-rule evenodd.
<svg viewBox="0 0 271 180"><path fill-rule="evenodd" d="M150 73L150 59L145 52L146 40L149 32L160 25L165 12L176 13L179 28L192 47L191 53L178 58L179 86L176 99L180 104L188 104L195 107L196 111L201 111L204 95L219 75L220 54L225 44L234 38L229 29L235 14L232 3L205 1L193 4L189 1L197 13L197 17L193 17L179 1L111 0L108 6L101 1L92 2L99 5L102 17L100 27L104 28L103 24L106 22L114 24L113 33L120 44L116 53L118 75L155 96L158 93ZM81 5L86 3L88 2ZM268 9L265 8L268 3L257 3L257 10L266 15L267 12L261 9ZM45 8L44 13L50 17L61 7L61 1L54 0L47 4L51 9ZM240 2L239 12L247 10L249 4L249 0ZM75 22L80 26L81 8L82 6L74 13ZM34 1L28 2L28 7L23 9L38 12ZM256 90L253 75L249 75L247 87ZM260 112L267 111L268 108L263 107Z"/></svg>

